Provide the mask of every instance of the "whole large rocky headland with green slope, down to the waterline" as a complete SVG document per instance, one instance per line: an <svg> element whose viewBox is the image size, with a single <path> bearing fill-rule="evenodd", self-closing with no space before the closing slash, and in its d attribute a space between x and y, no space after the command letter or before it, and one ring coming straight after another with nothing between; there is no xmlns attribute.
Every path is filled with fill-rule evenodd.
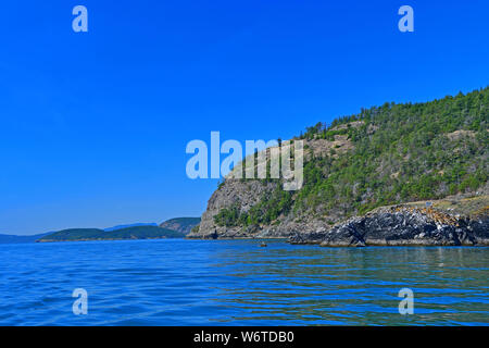
<svg viewBox="0 0 489 348"><path fill-rule="evenodd" d="M488 130L489 88L427 103L386 103L331 125L318 123L292 139L304 144L301 189L284 191L280 179L228 177L188 237L487 244L487 214L473 213L489 204ZM422 200L432 201L432 211L390 211Z"/></svg>

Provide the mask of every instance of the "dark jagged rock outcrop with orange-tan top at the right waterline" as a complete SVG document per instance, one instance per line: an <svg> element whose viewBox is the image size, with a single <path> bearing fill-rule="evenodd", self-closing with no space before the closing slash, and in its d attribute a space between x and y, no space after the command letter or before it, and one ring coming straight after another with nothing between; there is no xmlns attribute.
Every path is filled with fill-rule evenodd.
<svg viewBox="0 0 489 348"><path fill-rule="evenodd" d="M324 247L489 245L489 217L447 214L431 208L388 207L318 233L298 233L292 244Z"/></svg>

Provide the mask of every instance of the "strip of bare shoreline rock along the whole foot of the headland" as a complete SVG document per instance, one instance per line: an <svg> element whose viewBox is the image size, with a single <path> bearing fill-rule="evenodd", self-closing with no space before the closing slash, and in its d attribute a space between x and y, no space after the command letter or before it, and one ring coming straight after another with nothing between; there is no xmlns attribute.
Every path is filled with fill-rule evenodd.
<svg viewBox="0 0 489 348"><path fill-rule="evenodd" d="M300 228L281 226L214 227L190 234L198 239L287 238L290 244L323 247L489 246L487 196L381 207L333 226L316 220ZM454 206L450 206L454 204ZM447 206L449 204L449 206ZM477 211L474 210L474 204ZM450 208L455 207L455 208ZM444 209L442 209L444 208ZM463 214L461 211L471 210Z"/></svg>

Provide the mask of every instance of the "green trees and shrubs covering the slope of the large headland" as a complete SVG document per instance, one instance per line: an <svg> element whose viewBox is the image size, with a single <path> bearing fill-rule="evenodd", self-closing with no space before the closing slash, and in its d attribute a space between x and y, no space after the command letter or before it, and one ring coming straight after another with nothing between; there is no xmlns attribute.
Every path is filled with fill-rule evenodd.
<svg viewBox="0 0 489 348"><path fill-rule="evenodd" d="M476 192L487 185L489 87L425 103L385 103L317 123L296 139L341 144L304 161L304 185L296 192L277 186L247 211L239 203L214 216L221 226L273 224L279 216L335 220L380 206ZM269 182L271 179L266 179Z"/></svg>

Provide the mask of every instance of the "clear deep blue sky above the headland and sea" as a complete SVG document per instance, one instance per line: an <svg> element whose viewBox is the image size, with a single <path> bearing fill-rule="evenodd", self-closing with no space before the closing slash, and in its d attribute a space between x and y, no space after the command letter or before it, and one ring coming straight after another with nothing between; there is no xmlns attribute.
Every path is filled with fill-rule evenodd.
<svg viewBox="0 0 489 348"><path fill-rule="evenodd" d="M216 182L187 178L189 140L487 86L488 18L486 0L3 1L0 233L200 215Z"/></svg>

